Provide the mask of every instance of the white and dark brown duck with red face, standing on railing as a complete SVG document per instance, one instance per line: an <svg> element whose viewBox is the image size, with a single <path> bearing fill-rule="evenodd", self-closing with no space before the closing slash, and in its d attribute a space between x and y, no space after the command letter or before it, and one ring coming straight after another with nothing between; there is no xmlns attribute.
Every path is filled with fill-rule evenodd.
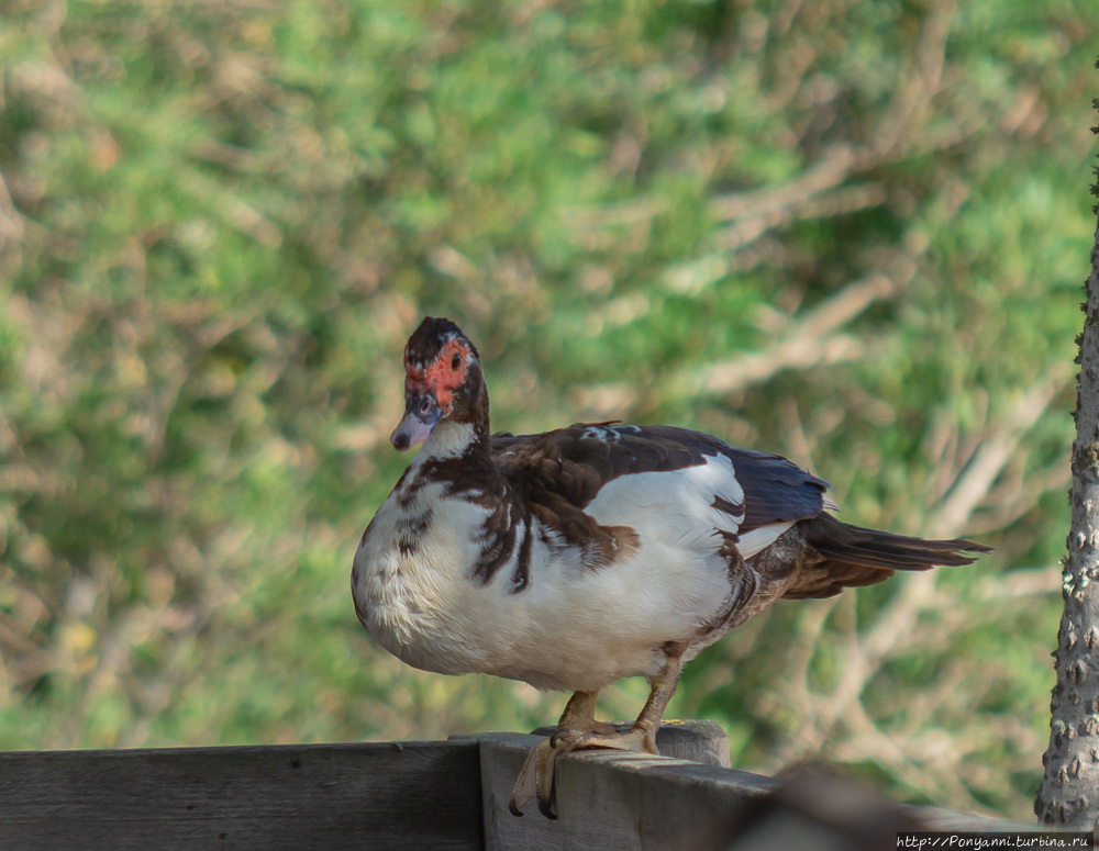
<svg viewBox="0 0 1099 851"><path fill-rule="evenodd" d="M657 753L684 664L779 600L830 597L989 547L863 528L782 456L667 425L576 423L492 434L477 347L426 316L403 352L398 451L421 446L363 533L352 597L409 665L571 692L510 808L555 818L554 766L576 750ZM610 683L651 692L624 728L595 719Z"/></svg>

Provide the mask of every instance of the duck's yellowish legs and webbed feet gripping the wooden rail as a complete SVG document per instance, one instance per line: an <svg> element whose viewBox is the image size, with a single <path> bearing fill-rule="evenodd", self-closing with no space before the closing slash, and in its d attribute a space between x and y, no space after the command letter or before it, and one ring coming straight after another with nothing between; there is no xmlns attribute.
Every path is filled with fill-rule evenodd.
<svg viewBox="0 0 1099 851"><path fill-rule="evenodd" d="M686 645L668 643L665 646L665 664L660 672L650 681L652 691L645 706L629 730L619 732L607 724L600 724L592 717L595 709L593 692L577 692L565 707L557 730L548 739L534 746L523 769L519 773L510 808L517 816L521 808L532 798L537 797L539 809L547 818L556 818L554 795L554 764L557 758L581 748L614 748L618 750L658 753L656 749L656 731L668 706L668 701L675 694L679 683L679 671ZM590 695L590 697L588 697ZM590 703L589 703L590 701ZM585 726L587 730L582 729Z"/></svg>

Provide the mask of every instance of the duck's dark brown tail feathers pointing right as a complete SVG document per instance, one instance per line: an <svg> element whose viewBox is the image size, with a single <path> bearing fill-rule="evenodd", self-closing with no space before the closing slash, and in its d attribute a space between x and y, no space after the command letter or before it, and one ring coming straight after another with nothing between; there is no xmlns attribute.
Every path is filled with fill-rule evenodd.
<svg viewBox="0 0 1099 851"><path fill-rule="evenodd" d="M845 587L874 585L887 580L896 570L972 564L977 555L992 549L961 538L925 540L864 529L828 514L804 522L801 528L806 542L824 560L803 571L802 580L784 595L791 600L830 597Z"/></svg>

